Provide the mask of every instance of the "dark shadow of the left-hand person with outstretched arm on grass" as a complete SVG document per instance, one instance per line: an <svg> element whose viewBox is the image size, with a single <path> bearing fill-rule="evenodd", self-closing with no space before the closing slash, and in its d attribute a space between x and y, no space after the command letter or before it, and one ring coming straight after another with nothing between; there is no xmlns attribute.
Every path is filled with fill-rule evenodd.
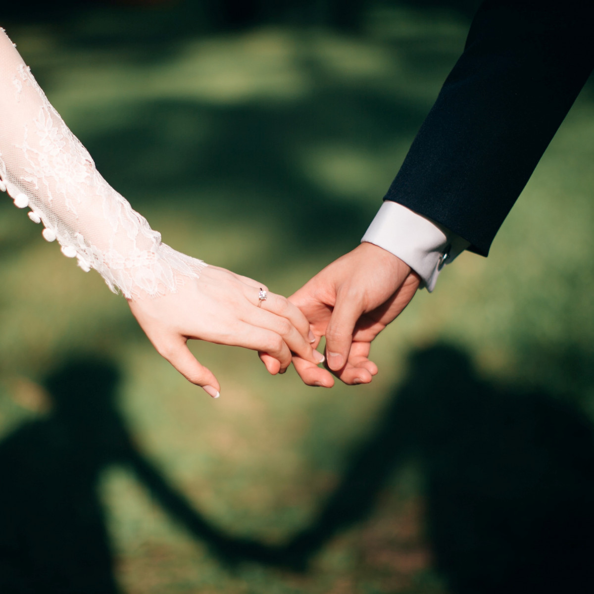
<svg viewBox="0 0 594 594"><path fill-rule="evenodd" d="M45 382L48 416L0 443L0 592L116 594L100 473L126 466L151 499L214 551L214 529L138 451L117 408L110 362L73 359Z"/></svg>

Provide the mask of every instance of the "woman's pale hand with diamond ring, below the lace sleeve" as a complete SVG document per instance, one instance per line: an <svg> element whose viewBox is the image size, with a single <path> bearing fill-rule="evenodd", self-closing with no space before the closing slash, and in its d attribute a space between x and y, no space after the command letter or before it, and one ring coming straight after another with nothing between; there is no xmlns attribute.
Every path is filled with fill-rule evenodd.
<svg viewBox="0 0 594 594"><path fill-rule="evenodd" d="M129 299L128 304L157 352L217 398L220 384L192 355L188 339L266 352L271 356L266 368L273 375L286 370L291 352L314 364L324 360L309 342L309 323L301 311L275 293L260 302L261 287L266 289L225 268L208 266L200 279L184 279L176 293Z"/></svg>

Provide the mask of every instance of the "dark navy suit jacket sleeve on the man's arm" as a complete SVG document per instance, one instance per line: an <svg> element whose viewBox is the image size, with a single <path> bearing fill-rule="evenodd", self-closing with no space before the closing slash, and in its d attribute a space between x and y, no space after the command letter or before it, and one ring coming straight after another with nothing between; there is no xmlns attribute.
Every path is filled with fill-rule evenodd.
<svg viewBox="0 0 594 594"><path fill-rule="evenodd" d="M594 67L592 4L484 2L384 200L486 256Z"/></svg>

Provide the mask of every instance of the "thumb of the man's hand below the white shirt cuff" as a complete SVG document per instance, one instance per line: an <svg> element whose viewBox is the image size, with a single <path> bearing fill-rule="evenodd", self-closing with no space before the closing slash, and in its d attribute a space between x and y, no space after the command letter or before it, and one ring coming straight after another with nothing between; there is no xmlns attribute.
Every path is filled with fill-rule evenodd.
<svg viewBox="0 0 594 594"><path fill-rule="evenodd" d="M350 343L353 340L355 324L362 314L362 305L358 299L340 294L326 328L326 359L332 371L338 371L346 365L349 358Z"/></svg>

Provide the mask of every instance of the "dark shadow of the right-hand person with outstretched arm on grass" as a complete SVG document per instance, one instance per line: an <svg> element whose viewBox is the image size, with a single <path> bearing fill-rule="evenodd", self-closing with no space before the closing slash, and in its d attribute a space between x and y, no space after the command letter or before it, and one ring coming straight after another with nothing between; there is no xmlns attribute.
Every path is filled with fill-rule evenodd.
<svg viewBox="0 0 594 594"><path fill-rule="evenodd" d="M311 525L280 548L236 541L228 555L306 570L334 535L365 520L415 459L435 569L454 594L594 589L594 431L544 391L481 379L448 345L416 352L375 430Z"/></svg>

